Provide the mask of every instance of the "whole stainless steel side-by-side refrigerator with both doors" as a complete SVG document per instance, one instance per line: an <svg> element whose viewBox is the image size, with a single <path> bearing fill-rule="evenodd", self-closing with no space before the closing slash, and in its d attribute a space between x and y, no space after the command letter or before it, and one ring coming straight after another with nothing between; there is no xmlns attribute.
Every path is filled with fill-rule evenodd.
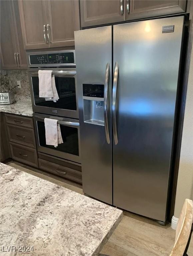
<svg viewBox="0 0 193 256"><path fill-rule="evenodd" d="M83 192L165 222L184 17L75 32Z"/></svg>

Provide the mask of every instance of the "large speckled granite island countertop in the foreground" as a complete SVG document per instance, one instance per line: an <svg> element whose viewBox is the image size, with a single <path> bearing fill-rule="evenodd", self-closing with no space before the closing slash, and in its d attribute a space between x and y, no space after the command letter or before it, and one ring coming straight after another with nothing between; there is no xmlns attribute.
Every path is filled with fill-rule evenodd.
<svg viewBox="0 0 193 256"><path fill-rule="evenodd" d="M3 245L34 246L34 256L98 255L122 211L0 163ZM1 254L2 253L2 254Z"/></svg>

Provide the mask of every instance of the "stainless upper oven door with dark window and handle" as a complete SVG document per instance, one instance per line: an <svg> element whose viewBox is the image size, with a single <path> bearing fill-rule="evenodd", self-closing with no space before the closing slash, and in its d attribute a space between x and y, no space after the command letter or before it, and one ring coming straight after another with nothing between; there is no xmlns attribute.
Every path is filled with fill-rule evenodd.
<svg viewBox="0 0 193 256"><path fill-rule="evenodd" d="M49 68L55 76L59 96L59 100L56 102L39 97L38 70L45 70L45 68L29 70L33 111L78 119L76 68Z"/></svg>

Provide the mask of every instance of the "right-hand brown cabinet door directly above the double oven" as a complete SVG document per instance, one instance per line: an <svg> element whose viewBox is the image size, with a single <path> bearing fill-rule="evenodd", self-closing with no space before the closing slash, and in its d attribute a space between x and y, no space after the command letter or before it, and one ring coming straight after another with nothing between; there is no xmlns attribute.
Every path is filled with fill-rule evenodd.
<svg viewBox="0 0 193 256"><path fill-rule="evenodd" d="M47 1L49 47L74 45L74 31L80 30L79 3L74 1Z"/></svg>

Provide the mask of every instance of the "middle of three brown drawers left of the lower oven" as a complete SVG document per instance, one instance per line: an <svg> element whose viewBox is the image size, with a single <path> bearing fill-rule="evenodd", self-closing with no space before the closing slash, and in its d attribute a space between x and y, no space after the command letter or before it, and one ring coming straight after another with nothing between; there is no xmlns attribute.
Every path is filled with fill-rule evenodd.
<svg viewBox="0 0 193 256"><path fill-rule="evenodd" d="M8 124L7 130L10 142L15 142L27 147L36 148L33 129Z"/></svg>

